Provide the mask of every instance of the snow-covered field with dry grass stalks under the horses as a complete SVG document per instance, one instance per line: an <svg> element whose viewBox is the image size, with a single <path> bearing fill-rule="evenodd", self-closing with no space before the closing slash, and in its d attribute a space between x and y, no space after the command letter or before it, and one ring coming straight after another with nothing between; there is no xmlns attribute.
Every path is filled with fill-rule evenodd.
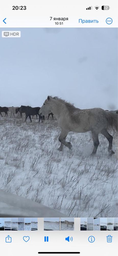
<svg viewBox="0 0 118 256"><path fill-rule="evenodd" d="M4 114L3 114L4 116ZM117 216L117 137L112 130L113 150L99 135L96 156L91 156L90 132L70 132L64 147L56 120L30 123L24 119L0 118L0 189L32 199L69 217ZM47 214L48 215L48 214ZM48 216L47 216L48 217ZM53 216L52 216L53 217Z"/></svg>

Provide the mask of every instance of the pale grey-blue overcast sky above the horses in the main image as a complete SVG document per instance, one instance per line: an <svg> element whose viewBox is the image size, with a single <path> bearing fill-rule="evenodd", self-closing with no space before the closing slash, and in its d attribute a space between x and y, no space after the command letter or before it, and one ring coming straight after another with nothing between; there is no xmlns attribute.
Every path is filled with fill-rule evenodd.
<svg viewBox="0 0 118 256"><path fill-rule="evenodd" d="M41 107L52 95L117 109L117 28L18 30L21 38L0 37L0 106Z"/></svg>

